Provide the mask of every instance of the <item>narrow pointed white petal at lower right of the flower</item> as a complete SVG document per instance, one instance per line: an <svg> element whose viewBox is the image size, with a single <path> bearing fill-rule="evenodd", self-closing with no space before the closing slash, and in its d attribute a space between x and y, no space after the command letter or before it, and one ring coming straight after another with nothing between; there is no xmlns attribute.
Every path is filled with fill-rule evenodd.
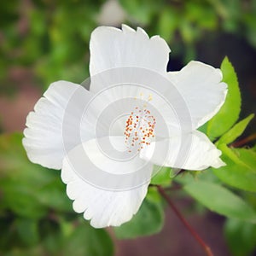
<svg viewBox="0 0 256 256"><path fill-rule="evenodd" d="M180 137L170 137L141 151L144 160L158 166L171 166L186 170L204 170L212 166L224 166L219 158L221 151L200 131L192 131Z"/></svg>

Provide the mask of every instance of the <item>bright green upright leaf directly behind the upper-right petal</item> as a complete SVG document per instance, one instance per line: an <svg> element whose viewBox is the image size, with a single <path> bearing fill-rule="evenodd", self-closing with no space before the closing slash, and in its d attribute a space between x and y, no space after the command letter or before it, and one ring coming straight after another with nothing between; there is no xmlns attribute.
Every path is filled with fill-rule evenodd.
<svg viewBox="0 0 256 256"><path fill-rule="evenodd" d="M228 84L228 93L224 105L218 113L208 122L208 137L219 137L236 123L241 111L241 94L236 72L227 57L221 64L223 81Z"/></svg>

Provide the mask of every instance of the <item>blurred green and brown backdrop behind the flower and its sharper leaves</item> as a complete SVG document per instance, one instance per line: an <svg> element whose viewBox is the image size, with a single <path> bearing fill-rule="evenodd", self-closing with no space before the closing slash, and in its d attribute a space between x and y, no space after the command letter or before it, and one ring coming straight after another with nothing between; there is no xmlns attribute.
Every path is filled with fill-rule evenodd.
<svg viewBox="0 0 256 256"><path fill-rule="evenodd" d="M105 230L93 230L73 212L59 172L32 165L21 146L19 132L25 128L26 114L49 84L59 79L81 83L89 76L90 33L96 26L122 23L142 26L150 36L166 39L172 49L168 70L179 70L190 60L219 67L228 55L240 80L241 118L255 112L256 1L2 1L0 255L108 256L113 254L113 242L119 256L203 255L172 218L167 218L160 235L116 241L108 230L111 241ZM252 134L254 126L255 120L244 136ZM224 237L223 218L200 215L201 207L177 197L217 255L253 255L254 225L231 222L225 225ZM255 201L254 195L249 200ZM177 236L179 230L182 235ZM166 236L177 238L176 243L170 245ZM242 248L237 241L243 242Z"/></svg>

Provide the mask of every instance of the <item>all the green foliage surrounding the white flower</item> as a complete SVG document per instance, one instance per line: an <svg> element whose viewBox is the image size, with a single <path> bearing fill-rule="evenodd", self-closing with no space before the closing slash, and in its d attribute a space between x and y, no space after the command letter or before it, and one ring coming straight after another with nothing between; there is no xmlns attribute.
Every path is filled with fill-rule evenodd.
<svg viewBox="0 0 256 256"><path fill-rule="evenodd" d="M59 79L82 82L89 76L90 32L99 26L102 0L4 1L0 8L0 92L15 94L10 71L32 73L42 91ZM196 59L196 44L206 35L229 32L256 48L256 1L121 0L123 22L160 34L183 64ZM119 26L119 25L117 25ZM256 246L256 148L234 148L253 114L241 119L241 93L234 68L225 58L221 69L229 85L227 100L201 131L223 151L218 170L170 177L164 168L153 184L179 183L183 196L227 220L224 234L234 256L251 255ZM253 112L253 111L252 111ZM0 119L1 121L1 119ZM113 255L106 230L94 230L73 212L60 172L33 165L21 146L20 133L0 136L0 254ZM172 175L171 175L172 176ZM196 176L196 177L195 177ZM172 195L171 195L172 196ZM228 203L227 203L228 202ZM165 203L154 187L131 222L114 229L120 239L148 236L164 224Z"/></svg>

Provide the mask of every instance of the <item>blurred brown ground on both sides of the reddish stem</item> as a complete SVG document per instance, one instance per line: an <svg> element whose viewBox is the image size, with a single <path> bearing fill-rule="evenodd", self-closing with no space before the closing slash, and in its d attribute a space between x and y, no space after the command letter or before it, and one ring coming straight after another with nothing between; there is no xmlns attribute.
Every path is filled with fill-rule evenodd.
<svg viewBox="0 0 256 256"><path fill-rule="evenodd" d="M176 201L175 201L176 202ZM176 202L179 209L184 208L184 201ZM212 248L216 256L229 256L230 253L224 242L222 227L224 218L213 213L204 215L191 214L185 218ZM116 241L116 256L205 256L201 246L185 230L171 209L166 209L166 223L164 229L157 235L137 238L136 240Z"/></svg>

